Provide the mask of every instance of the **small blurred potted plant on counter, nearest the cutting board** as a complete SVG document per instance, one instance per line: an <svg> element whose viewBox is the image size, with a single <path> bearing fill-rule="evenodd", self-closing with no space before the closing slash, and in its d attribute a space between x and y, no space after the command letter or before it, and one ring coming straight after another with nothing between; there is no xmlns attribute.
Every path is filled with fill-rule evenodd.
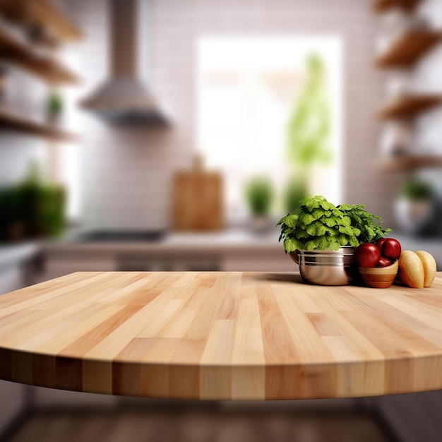
<svg viewBox="0 0 442 442"><path fill-rule="evenodd" d="M275 195L272 181L266 177L253 177L247 182L245 193L253 230L265 232L272 225L270 208Z"/></svg>

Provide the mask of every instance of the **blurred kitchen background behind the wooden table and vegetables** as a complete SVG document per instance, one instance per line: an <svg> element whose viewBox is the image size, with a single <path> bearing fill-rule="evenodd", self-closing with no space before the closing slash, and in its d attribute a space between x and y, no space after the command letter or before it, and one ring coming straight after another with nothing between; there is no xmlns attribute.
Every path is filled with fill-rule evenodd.
<svg viewBox="0 0 442 442"><path fill-rule="evenodd" d="M0 0L0 294L78 270L294 271L275 223L309 193L365 204L441 270L441 69L441 0ZM0 393L8 437L30 407L118 402ZM439 396L356 408L432 441Z"/></svg>

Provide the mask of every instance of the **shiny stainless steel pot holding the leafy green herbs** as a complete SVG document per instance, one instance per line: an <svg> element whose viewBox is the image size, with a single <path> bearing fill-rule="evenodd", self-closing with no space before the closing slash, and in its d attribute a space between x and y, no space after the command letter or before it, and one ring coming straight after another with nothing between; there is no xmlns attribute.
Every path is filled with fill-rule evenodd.
<svg viewBox="0 0 442 442"><path fill-rule="evenodd" d="M299 264L304 282L315 285L348 285L356 275L354 247L343 246L333 250L297 250L290 252Z"/></svg>

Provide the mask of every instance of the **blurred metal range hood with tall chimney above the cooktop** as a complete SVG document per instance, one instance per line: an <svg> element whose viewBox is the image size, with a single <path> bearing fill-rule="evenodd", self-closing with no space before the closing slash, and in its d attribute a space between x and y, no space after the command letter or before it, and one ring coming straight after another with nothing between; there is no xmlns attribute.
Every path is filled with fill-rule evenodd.
<svg viewBox="0 0 442 442"><path fill-rule="evenodd" d="M138 78L139 34L147 13L141 1L109 0L111 77L80 106L111 123L168 124L157 97Z"/></svg>

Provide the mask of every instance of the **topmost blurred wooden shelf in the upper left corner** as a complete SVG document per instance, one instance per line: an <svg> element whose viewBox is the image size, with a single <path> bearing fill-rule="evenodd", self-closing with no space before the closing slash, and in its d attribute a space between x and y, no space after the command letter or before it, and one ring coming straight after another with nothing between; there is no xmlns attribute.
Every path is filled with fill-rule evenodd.
<svg viewBox="0 0 442 442"><path fill-rule="evenodd" d="M83 38L80 28L51 0L0 0L0 12L20 25L49 28L60 40Z"/></svg>

